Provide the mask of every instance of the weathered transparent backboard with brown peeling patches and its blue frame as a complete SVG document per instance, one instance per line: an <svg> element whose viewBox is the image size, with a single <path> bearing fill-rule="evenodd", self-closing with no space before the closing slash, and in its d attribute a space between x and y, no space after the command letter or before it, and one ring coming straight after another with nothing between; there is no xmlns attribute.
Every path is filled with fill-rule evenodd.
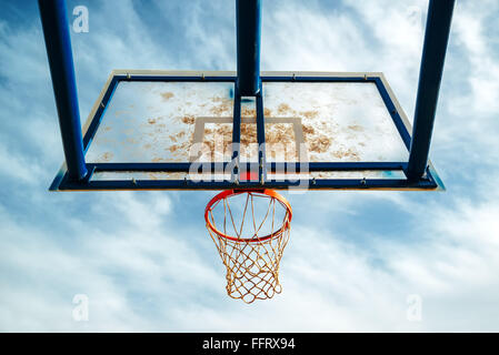
<svg viewBox="0 0 499 355"><path fill-rule="evenodd" d="M89 174L51 190L443 189L405 175L411 128L382 73L117 70L83 126Z"/></svg>

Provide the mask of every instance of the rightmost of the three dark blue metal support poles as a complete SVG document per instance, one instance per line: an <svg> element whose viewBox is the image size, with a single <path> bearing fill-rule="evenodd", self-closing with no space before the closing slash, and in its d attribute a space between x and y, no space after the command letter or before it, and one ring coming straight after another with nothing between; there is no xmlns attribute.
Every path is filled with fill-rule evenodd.
<svg viewBox="0 0 499 355"><path fill-rule="evenodd" d="M407 178L420 179L428 164L431 132L449 41L455 0L430 0L425 32Z"/></svg>

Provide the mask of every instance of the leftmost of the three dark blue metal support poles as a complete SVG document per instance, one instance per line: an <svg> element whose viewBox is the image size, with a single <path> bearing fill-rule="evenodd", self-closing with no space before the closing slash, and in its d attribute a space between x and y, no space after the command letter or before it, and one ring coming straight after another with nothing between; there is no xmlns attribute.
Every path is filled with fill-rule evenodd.
<svg viewBox="0 0 499 355"><path fill-rule="evenodd" d="M69 178L82 180L88 172L66 3L64 0L39 0L38 4Z"/></svg>

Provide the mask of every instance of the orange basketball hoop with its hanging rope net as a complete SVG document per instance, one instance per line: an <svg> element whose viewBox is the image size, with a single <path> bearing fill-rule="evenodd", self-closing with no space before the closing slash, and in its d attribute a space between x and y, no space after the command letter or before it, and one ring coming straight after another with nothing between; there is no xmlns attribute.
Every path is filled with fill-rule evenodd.
<svg viewBox="0 0 499 355"><path fill-rule="evenodd" d="M229 204L237 196L242 201L246 196L239 215ZM259 222L256 210L262 211ZM207 229L226 265L230 297L252 303L281 292L279 263L289 241L291 216L289 202L273 190L227 190L208 203ZM244 231L244 221L250 231Z"/></svg>

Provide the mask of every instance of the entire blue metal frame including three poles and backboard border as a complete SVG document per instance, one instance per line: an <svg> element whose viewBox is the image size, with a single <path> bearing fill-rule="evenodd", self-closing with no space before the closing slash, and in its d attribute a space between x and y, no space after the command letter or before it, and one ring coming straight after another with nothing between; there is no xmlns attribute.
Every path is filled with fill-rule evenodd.
<svg viewBox="0 0 499 355"><path fill-rule="evenodd" d="M84 135L81 134L78 109L78 97L74 80L74 68L71 52L71 42L67 21L64 0L39 0L40 16L46 39L47 53L52 75L53 91L58 108L62 143L64 148L66 166L63 166L50 190L224 190L269 187L288 189L300 185L302 182L286 180L283 182L269 181L267 172L280 171L282 166L301 171L300 163L271 163L266 162L265 153L265 115L262 82L291 81L291 82L373 82L393 120L406 148L409 150L408 162L363 162L363 163L309 163L308 171L362 171L388 170L403 171L407 179L349 179L349 180L310 180L307 189L388 189L388 190L437 190L443 189L440 179L431 164L428 164L428 153L433 128L438 92L443 70L445 54L449 39L450 22L455 0L430 0L425 45L421 59L418 99L416 104L415 128L412 138L408 125L398 112L389 90L380 77L261 77L260 78L260 42L261 42L261 0L237 0L237 44L238 44L238 77L170 77L117 74L108 85L99 108L91 118ZM233 154L231 179L222 182L191 182L184 181L93 181L92 174L102 171L164 171L188 172L190 163L107 163L87 164L84 152L89 149L93 136L100 125L106 109L120 81L222 81L234 84L234 121L233 121ZM241 95L256 97L257 100L257 135L260 145L258 181L240 181L241 166L239 166L240 143L240 109ZM251 168L247 164L246 169ZM212 171L223 164L210 166Z"/></svg>

